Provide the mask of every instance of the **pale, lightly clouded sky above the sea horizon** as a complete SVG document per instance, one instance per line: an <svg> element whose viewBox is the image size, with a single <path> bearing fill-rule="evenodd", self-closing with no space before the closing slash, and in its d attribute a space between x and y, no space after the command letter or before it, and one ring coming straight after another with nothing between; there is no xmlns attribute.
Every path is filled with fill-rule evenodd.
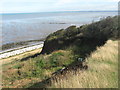
<svg viewBox="0 0 120 90"><path fill-rule="evenodd" d="M0 13L117 10L119 0L1 0Z"/></svg>

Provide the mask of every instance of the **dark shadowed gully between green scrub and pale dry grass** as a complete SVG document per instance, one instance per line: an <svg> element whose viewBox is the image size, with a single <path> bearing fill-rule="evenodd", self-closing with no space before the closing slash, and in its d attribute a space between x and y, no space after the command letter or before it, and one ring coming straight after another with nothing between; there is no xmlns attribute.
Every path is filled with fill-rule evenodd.
<svg viewBox="0 0 120 90"><path fill-rule="evenodd" d="M42 82L35 83L34 85L29 86L28 88L47 88L47 86L51 85L51 80L56 80L56 77L64 76L67 71L73 70L76 72L77 69L83 69L83 64L78 62L78 58L87 58L93 51L96 50L97 47L103 46L107 40L95 40L95 39L84 39L77 40L73 44L73 47L70 48L74 54L75 61L67 66L61 72L55 72L55 75L43 80ZM36 56L36 55L35 55Z"/></svg>

